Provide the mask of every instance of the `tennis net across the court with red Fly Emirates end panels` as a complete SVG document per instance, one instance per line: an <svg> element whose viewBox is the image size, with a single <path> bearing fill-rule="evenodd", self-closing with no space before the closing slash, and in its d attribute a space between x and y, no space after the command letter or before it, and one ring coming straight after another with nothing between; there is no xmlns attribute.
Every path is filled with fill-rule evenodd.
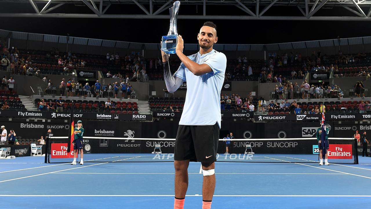
<svg viewBox="0 0 371 209"><path fill-rule="evenodd" d="M47 163L72 162L68 143L68 137L50 138ZM84 137L82 143L84 162L174 161L175 139ZM329 163L358 164L357 141L329 138L329 144ZM220 162L317 163L319 148L316 138L219 139L216 157Z"/></svg>

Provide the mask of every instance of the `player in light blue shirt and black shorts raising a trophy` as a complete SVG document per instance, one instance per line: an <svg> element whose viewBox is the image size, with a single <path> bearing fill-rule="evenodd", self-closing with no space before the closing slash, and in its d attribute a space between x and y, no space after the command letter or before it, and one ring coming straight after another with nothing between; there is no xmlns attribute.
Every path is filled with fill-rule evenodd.
<svg viewBox="0 0 371 209"><path fill-rule="evenodd" d="M176 53L182 61L172 74L168 55L162 52L164 78L170 93L187 81L183 114L180 118L175 140L175 200L174 209L183 209L188 188L188 165L190 161L201 162L203 171L203 209L211 208L215 190L215 165L221 125L220 91L223 86L227 58L213 49L218 41L216 26L205 22L197 35L200 51L183 54L183 39L178 35ZM187 96L188 95L188 96Z"/></svg>

